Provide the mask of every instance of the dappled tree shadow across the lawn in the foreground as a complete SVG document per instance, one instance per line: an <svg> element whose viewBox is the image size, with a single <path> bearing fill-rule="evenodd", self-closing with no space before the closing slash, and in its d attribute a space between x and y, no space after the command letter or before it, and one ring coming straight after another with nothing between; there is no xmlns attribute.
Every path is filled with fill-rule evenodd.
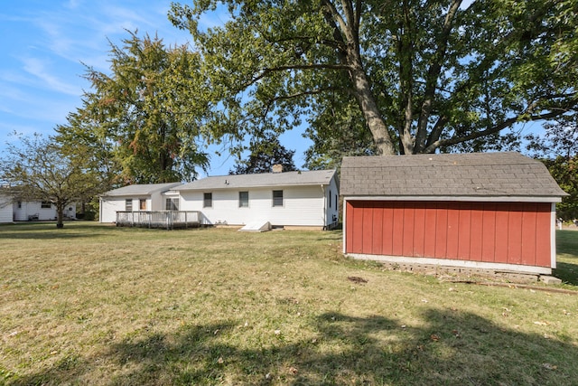
<svg viewBox="0 0 578 386"><path fill-rule="evenodd" d="M101 361L115 372L99 383L114 385L558 385L578 379L571 337L522 334L452 310L424 309L421 319L424 326L412 327L380 315L323 314L311 321L313 339L295 342L280 334L254 348L228 344L244 342L237 323L183 326L126 339L98 358L72 358L9 384L75 383L90 379Z"/></svg>

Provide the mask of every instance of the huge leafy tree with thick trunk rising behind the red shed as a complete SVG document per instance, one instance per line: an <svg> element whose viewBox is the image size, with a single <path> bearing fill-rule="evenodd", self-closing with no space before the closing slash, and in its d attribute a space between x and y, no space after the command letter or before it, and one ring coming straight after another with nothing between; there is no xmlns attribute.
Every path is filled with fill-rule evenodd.
<svg viewBox="0 0 578 386"><path fill-rule="evenodd" d="M575 8L576 0L206 0L173 4L169 17L191 32L220 92L217 134L283 130L306 116L316 137L368 130L377 154L410 155L499 146L517 122L573 111ZM210 12L228 21L201 28ZM351 130L359 134L342 134Z"/></svg>

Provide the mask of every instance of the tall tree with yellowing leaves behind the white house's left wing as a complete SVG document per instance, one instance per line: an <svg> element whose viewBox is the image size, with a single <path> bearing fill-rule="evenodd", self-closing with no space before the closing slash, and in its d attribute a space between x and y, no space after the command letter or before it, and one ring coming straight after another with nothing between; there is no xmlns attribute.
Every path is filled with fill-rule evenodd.
<svg viewBox="0 0 578 386"><path fill-rule="evenodd" d="M109 73L87 68L91 89L56 138L69 154L89 152L114 184L190 181L209 164L199 55L136 33L123 44L111 43Z"/></svg>

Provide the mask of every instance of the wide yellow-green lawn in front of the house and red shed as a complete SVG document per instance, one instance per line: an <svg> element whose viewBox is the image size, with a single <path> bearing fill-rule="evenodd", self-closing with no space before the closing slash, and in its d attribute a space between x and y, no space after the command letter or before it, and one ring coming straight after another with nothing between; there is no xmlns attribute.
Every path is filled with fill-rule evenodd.
<svg viewBox="0 0 578 386"><path fill-rule="evenodd" d="M578 380L575 295L387 271L340 231L53 227L0 227L0 384ZM578 232L557 236L578 291Z"/></svg>

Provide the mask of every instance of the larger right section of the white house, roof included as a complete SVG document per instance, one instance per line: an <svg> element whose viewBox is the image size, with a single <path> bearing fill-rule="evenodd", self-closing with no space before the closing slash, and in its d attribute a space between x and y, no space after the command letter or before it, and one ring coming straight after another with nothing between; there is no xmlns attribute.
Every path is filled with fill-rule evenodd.
<svg viewBox="0 0 578 386"><path fill-rule="evenodd" d="M181 211L203 222L327 229L337 224L339 183L335 170L206 177L172 189Z"/></svg>

